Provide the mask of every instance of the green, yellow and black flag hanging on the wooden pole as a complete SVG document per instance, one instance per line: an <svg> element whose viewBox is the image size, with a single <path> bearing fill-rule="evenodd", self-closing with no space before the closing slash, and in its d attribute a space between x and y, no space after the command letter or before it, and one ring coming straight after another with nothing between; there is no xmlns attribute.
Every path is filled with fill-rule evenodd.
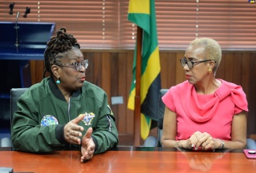
<svg viewBox="0 0 256 173"><path fill-rule="evenodd" d="M130 0L128 20L143 29L142 71L140 84L141 137L150 132L151 120L158 120L158 92L161 89L158 31L154 0ZM128 109L135 109L136 47L133 60L133 78L128 98Z"/></svg>

